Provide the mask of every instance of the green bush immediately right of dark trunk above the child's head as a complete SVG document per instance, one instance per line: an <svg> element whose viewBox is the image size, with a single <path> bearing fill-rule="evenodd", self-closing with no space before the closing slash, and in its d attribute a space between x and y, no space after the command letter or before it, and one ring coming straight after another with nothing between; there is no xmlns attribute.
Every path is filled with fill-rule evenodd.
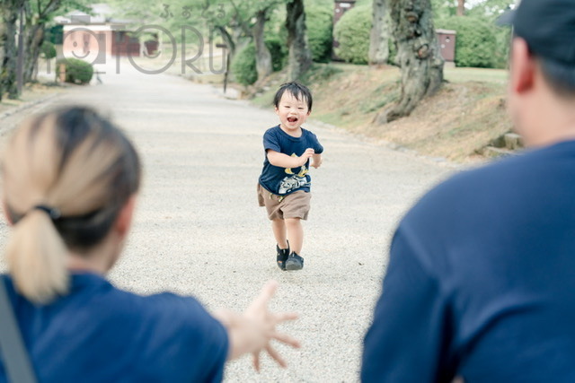
<svg viewBox="0 0 575 383"><path fill-rule="evenodd" d="M331 4L332 5L332 4ZM317 63L332 60L333 5L322 4L305 6L305 28L312 58Z"/></svg>

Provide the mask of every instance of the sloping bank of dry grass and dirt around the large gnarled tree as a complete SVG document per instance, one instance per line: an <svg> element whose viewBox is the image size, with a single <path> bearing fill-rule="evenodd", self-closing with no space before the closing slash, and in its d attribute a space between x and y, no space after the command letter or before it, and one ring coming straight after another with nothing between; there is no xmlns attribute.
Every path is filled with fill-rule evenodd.
<svg viewBox="0 0 575 383"><path fill-rule="evenodd" d="M306 81L314 94L312 118L431 157L473 161L482 148L511 129L505 110L506 74L456 68L446 70L446 77L455 80L423 100L410 117L376 125L377 115L401 96L399 69L320 65ZM272 79L270 89L254 102L269 107L277 83Z"/></svg>

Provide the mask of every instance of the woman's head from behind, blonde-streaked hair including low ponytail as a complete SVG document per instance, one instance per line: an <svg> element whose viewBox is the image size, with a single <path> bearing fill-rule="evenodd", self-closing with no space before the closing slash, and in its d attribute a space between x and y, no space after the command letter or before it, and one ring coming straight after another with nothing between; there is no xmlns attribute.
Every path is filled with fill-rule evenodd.
<svg viewBox="0 0 575 383"><path fill-rule="evenodd" d="M68 292L71 257L87 256L101 243L137 192L137 152L93 109L63 108L15 132L2 170L13 222L6 263L18 292L48 303Z"/></svg>

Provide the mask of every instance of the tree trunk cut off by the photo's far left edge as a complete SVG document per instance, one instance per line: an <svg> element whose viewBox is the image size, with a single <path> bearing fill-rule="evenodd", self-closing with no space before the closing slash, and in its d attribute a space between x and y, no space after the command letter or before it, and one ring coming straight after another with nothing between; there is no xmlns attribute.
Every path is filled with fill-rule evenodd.
<svg viewBox="0 0 575 383"><path fill-rule="evenodd" d="M5 30L4 57L2 60L2 73L0 82L4 92L8 92L9 99L18 98L18 84L16 83L16 64L18 50L16 45L16 22L20 11L20 2L4 1L2 4L2 16Z"/></svg>

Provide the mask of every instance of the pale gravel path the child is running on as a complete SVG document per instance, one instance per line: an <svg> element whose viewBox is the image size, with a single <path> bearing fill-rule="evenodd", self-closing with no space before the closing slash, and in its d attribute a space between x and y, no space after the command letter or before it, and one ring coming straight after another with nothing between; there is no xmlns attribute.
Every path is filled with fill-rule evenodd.
<svg viewBox="0 0 575 383"><path fill-rule="evenodd" d="M111 114L137 144L145 182L128 246L110 275L113 283L141 293L193 294L209 309L242 310L263 283L276 279L272 309L300 313L283 329L303 348L278 346L287 370L267 358L260 374L249 357L229 363L226 381L358 381L362 337L394 226L421 193L453 170L312 120L306 127L325 152L322 168L311 170L305 268L281 272L255 194L261 136L278 123L273 110L124 64L121 74L107 72L102 85L73 89L21 115L55 104L89 104ZM1 120L3 135L22 116ZM0 226L2 239L6 231Z"/></svg>

